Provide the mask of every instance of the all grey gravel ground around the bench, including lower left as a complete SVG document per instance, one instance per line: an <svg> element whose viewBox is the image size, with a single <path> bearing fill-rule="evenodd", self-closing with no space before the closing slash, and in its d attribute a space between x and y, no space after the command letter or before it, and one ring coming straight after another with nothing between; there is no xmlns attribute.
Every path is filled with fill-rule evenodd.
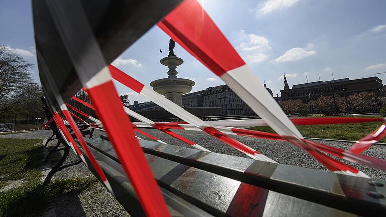
<svg viewBox="0 0 386 217"><path fill-rule="evenodd" d="M155 130L155 129L142 129L143 131L161 139L164 142L173 145L180 145L183 147L190 147L189 145L174 139L173 137ZM243 153L233 149L232 147L226 145L225 143L213 138L212 136L197 131L185 131L185 130L174 130L174 132L197 142L199 145L217 153L223 153L228 155L235 155L240 157L246 157ZM104 132L95 131L94 137L99 137ZM51 135L50 130L45 131L35 131L28 133L18 133L18 134L8 134L0 135L3 138L41 138L48 139ZM141 134L137 133L137 136L142 139L149 139ZM254 148L255 150L263 153L264 155L272 158L280 164L288 164L294 166L301 166L310 169L317 169L327 171L327 169L317 162L314 158L310 157L307 153L295 147L294 145L282 142L282 141L273 141L273 140L264 140L253 137L241 137L241 136L232 136L237 138L240 142ZM351 143L345 142L334 142L334 141L317 141L326 145L347 149L351 146ZM56 141L50 142L49 146L55 145ZM374 145L369 150L364 152L365 155L373 156L376 158L386 159L386 146ZM78 159L76 155L70 152L70 155L67 158L67 162ZM366 166L356 165L351 162L345 161L346 163L360 169L368 176L373 179L386 180L386 173L369 168ZM68 179L75 177L87 177L92 176L92 173L83 165L79 164L77 166L72 166L66 168L60 172L57 172L54 175L54 179ZM64 201L75 204L77 208L82 207L82 210L77 213L73 213L76 216L129 216L128 213L122 208L122 206L114 199L113 196L103 187L102 184L98 183L95 187L90 188L79 195L75 195L71 198L57 198L58 201L53 201L53 205L57 208L56 216L68 216L68 212L65 209L60 208L63 205ZM65 204L67 204L65 202ZM74 206L74 207L75 207ZM64 210L61 212L61 210ZM74 215L74 216L75 216Z"/></svg>

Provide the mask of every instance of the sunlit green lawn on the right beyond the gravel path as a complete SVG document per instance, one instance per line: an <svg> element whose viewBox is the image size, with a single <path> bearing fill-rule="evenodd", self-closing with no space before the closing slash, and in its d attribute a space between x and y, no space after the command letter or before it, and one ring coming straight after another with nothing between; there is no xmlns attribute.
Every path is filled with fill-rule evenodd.
<svg viewBox="0 0 386 217"><path fill-rule="evenodd" d="M355 141L376 130L381 124L381 122L367 122L331 125L298 125L296 127L304 137ZM275 133L272 128L268 126L256 126L250 129ZM386 142L386 140L382 139L380 142Z"/></svg>

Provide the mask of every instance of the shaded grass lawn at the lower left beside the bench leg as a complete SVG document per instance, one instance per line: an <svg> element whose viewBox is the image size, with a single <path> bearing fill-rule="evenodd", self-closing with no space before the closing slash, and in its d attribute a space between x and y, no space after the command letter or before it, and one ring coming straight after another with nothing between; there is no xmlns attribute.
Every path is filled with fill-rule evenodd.
<svg viewBox="0 0 386 217"><path fill-rule="evenodd" d="M41 139L0 138L0 188L16 180L22 184L0 192L0 216L36 216L43 212L49 199L83 191L96 178L56 180L43 187Z"/></svg>

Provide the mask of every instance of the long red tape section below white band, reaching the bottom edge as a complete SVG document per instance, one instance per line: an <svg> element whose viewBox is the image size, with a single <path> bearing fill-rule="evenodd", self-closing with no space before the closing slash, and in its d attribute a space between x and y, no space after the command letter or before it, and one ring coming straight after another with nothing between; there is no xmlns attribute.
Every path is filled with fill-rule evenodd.
<svg viewBox="0 0 386 217"><path fill-rule="evenodd" d="M87 93L146 215L170 216L113 82L90 88Z"/></svg>

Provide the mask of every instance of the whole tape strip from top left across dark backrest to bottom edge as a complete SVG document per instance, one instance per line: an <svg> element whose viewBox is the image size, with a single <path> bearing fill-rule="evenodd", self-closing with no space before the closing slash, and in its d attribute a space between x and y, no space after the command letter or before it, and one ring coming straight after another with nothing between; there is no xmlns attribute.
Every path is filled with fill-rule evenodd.
<svg viewBox="0 0 386 217"><path fill-rule="evenodd" d="M53 15L53 23L68 57L73 63L74 71L105 127L145 214L170 216L159 186L143 155L143 150L135 138L130 120L122 109L122 103L111 80L104 55L81 3L49 1L47 6ZM68 11L72 13L66 13ZM82 46L84 44L87 46Z"/></svg>

